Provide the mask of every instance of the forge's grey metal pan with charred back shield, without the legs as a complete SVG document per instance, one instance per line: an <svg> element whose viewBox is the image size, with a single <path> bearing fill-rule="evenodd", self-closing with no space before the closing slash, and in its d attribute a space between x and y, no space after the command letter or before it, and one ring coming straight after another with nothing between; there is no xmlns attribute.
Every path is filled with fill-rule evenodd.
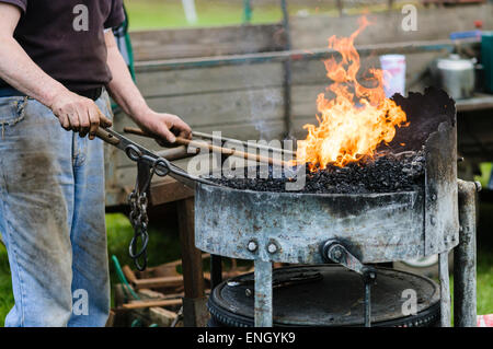
<svg viewBox="0 0 493 349"><path fill-rule="evenodd" d="M332 175L325 170L311 175L312 183L308 178L299 193L280 190L286 178L222 177L217 179L222 184L219 186L200 184L196 197L197 246L219 255L234 254L238 258L312 264L323 261L320 244L328 239L344 241L362 263L423 257L457 245L454 101L438 90L395 100L411 124L400 129L397 139L388 146L389 151L404 142L404 149L399 146L398 151L417 155L408 161L388 155L392 160L377 159L363 167L334 170ZM403 172L412 168L408 164L413 162L422 168L412 174ZM394 170L390 173L386 171L389 163ZM400 176L393 177L397 172ZM324 173L334 178L333 188L337 189L339 185L343 193L326 193L329 182L320 181ZM352 185L337 184L348 173L352 173ZM376 174L367 186L360 186L371 173ZM316 185L322 189L313 190ZM225 234L228 244L222 241ZM262 248L254 253L238 248L251 241L259 246L274 242L278 249L271 254Z"/></svg>

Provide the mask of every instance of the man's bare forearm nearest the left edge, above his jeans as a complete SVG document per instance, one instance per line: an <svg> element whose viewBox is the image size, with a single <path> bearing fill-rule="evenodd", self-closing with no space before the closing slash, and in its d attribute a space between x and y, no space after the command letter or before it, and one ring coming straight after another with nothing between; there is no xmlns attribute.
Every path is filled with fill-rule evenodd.
<svg viewBox="0 0 493 349"><path fill-rule="evenodd" d="M0 78L48 107L58 93L67 90L45 73L9 35L0 36Z"/></svg>

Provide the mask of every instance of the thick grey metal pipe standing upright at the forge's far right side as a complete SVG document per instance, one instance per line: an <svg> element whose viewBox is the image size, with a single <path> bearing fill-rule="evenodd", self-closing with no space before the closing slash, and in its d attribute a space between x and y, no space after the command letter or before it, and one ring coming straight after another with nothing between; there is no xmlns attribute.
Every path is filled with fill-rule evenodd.
<svg viewBox="0 0 493 349"><path fill-rule="evenodd" d="M454 325L475 327L475 193L472 182L459 181L459 245L454 249Z"/></svg>

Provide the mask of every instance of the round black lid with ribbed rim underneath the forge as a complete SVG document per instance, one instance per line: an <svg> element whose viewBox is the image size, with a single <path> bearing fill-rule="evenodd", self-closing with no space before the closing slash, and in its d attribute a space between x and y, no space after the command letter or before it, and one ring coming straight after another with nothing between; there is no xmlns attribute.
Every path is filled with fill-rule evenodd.
<svg viewBox="0 0 493 349"><path fill-rule="evenodd" d="M253 274L246 274L216 287L208 301L213 318L228 326L253 326ZM363 279L339 265L278 268L273 272L273 306L274 326L363 326ZM371 288L374 326L424 326L438 316L436 282L377 269Z"/></svg>

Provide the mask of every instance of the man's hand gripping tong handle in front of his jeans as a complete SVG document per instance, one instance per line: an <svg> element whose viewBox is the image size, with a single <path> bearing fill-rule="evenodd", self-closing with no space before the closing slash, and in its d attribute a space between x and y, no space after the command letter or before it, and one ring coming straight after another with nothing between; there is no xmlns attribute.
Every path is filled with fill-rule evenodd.
<svg viewBox="0 0 493 349"><path fill-rule="evenodd" d="M89 133L89 139L94 139L100 126L112 126L112 121L103 115L94 101L68 90L55 95L49 108L58 117L62 128L79 132L80 137Z"/></svg>

